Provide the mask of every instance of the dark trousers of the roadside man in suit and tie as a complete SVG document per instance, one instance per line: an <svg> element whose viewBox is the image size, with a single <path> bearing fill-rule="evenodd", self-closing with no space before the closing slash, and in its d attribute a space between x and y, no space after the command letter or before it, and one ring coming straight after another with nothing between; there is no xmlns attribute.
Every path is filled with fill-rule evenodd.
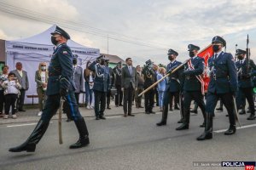
<svg viewBox="0 0 256 170"><path fill-rule="evenodd" d="M134 88L130 82L129 88L124 88L124 113L131 114L131 105L132 105L132 99L134 96ZM127 112L128 111L128 112Z"/></svg>

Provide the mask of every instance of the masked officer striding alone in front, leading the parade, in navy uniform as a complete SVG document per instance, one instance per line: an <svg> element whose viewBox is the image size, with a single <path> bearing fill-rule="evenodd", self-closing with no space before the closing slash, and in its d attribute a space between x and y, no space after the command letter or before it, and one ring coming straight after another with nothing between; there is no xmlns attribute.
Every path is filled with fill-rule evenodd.
<svg viewBox="0 0 256 170"><path fill-rule="evenodd" d="M35 127L32 134L26 139L26 142L15 148L10 148L11 152L27 151L33 152L36 149L36 144L42 139L46 132L49 121L60 106L60 100L66 99L70 107L71 115L79 131L79 140L77 143L70 145L70 149L84 147L89 144L89 133L84 122L84 118L80 115L79 105L76 102L74 95L73 82L73 64L72 52L67 46L67 40L70 39L66 31L56 26L55 31L51 33L51 42L56 46L54 54L49 63L49 80L47 84L46 100L43 114Z"/></svg>

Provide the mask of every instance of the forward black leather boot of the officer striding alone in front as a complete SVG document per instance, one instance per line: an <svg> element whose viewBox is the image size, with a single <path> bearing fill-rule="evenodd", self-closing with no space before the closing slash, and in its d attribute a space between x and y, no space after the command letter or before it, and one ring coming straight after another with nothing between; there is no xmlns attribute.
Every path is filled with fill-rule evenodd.
<svg viewBox="0 0 256 170"><path fill-rule="evenodd" d="M49 122L44 122L42 119L39 120L38 125L35 127L32 134L26 139L26 142L20 144L17 147L10 148L10 152L34 152L36 150L36 144L42 139L44 133L46 132L49 126Z"/></svg>

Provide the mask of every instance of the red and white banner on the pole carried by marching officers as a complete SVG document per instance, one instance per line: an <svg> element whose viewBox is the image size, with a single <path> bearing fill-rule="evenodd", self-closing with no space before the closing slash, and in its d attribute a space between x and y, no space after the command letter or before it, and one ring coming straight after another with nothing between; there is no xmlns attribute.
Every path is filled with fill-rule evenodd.
<svg viewBox="0 0 256 170"><path fill-rule="evenodd" d="M203 73L203 80L204 80L204 90L205 90L205 93L207 93L208 85L209 85L209 82L210 82L210 77L207 74L207 72L209 70L208 69L208 59L210 57L212 57L212 55L213 55L212 44L208 45L207 48L202 49L201 52L197 55L199 57L205 59L206 67L205 67L205 71Z"/></svg>

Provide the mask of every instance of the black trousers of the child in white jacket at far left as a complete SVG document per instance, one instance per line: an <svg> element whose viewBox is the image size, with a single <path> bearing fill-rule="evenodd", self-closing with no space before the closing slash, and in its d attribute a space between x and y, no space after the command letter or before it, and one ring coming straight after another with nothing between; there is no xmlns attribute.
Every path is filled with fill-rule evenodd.
<svg viewBox="0 0 256 170"><path fill-rule="evenodd" d="M16 112L16 100L17 100L17 94L6 94L5 97L5 104L4 104L4 112L5 115L9 115L9 109L12 106L12 115L15 115Z"/></svg>

